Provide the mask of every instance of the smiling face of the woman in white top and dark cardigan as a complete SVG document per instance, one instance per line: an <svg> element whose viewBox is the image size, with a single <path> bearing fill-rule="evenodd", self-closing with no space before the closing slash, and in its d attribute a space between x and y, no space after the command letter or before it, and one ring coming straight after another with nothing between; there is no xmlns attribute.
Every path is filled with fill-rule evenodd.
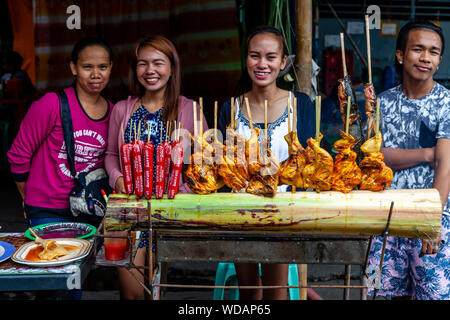
<svg viewBox="0 0 450 320"><path fill-rule="evenodd" d="M272 33L255 35L248 44L247 71L256 86L274 84L280 70L286 66L282 44Z"/></svg>

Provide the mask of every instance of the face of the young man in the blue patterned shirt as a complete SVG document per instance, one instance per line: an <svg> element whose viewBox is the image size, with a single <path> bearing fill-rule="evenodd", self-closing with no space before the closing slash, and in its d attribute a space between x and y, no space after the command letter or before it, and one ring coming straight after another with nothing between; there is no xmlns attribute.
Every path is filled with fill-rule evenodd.
<svg viewBox="0 0 450 320"><path fill-rule="evenodd" d="M396 51L397 59L403 65L403 78L432 81L442 60L441 50L439 34L426 29L411 30L405 51Z"/></svg>

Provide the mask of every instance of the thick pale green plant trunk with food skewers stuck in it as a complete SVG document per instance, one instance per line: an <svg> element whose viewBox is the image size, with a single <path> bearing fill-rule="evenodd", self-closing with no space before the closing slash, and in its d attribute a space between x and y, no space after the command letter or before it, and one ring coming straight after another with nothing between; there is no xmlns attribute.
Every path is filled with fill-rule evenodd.
<svg viewBox="0 0 450 320"><path fill-rule="evenodd" d="M248 193L180 193L176 199L151 202L153 226L160 229L380 235L390 204L395 202L389 235L435 239L442 216L436 189L279 192L273 198ZM108 231L145 228L146 206L145 200L134 195L110 195L105 217Z"/></svg>

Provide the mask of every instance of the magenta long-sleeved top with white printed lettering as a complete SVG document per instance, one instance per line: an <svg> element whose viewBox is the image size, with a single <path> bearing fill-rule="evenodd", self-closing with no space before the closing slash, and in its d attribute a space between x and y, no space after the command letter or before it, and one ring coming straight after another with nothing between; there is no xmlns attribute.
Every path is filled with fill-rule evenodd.
<svg viewBox="0 0 450 320"><path fill-rule="evenodd" d="M85 172L102 167L113 104L109 103L102 119L93 120L81 107L74 88L64 91L72 115L75 169ZM47 93L31 105L8 151L8 159L15 180L26 180L25 204L51 209L69 208L69 193L74 187L74 179L67 163L56 93Z"/></svg>

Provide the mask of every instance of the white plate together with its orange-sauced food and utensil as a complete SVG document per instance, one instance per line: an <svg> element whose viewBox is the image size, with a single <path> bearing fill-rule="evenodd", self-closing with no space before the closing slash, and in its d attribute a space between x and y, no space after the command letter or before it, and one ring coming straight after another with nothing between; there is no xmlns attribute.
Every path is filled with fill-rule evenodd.
<svg viewBox="0 0 450 320"><path fill-rule="evenodd" d="M14 262L33 267L56 267L86 257L92 243L84 239L41 239L22 245L11 257Z"/></svg>

